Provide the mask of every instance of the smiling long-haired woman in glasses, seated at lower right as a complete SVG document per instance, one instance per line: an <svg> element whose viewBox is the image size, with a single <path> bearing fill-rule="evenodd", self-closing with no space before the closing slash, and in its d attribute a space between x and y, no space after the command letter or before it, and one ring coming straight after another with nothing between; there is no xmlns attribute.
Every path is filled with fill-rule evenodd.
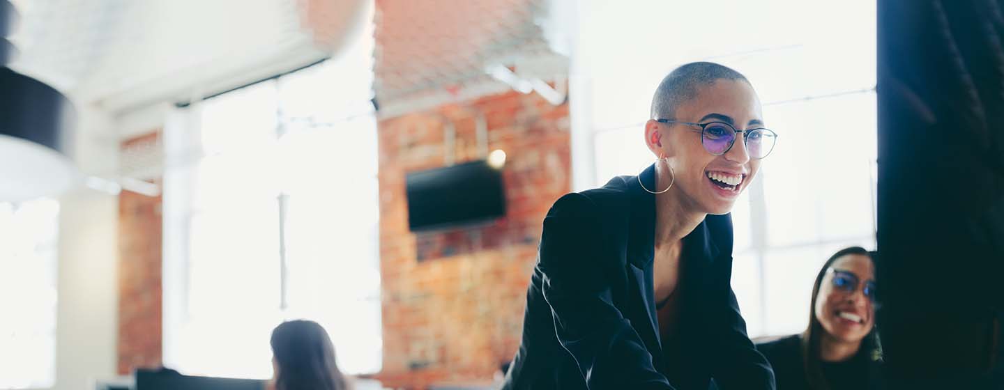
<svg viewBox="0 0 1004 390"><path fill-rule="evenodd" d="M805 331L757 345L774 368L778 390L882 388L874 269L862 248L836 252L812 285Z"/></svg>

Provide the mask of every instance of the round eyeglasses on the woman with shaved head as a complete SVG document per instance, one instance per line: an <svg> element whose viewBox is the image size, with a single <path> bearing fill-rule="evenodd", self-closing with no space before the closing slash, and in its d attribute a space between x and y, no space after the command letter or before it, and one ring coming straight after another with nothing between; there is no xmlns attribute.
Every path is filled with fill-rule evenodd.
<svg viewBox="0 0 1004 390"><path fill-rule="evenodd" d="M766 157L774 149L774 144L777 143L777 133L766 128L737 130L733 125L719 121L707 123L683 122L673 119L656 119L656 121L699 127L700 130L696 128L693 130L701 131L701 144L704 145L705 150L714 155L728 152L736 143L736 134L738 133L743 133L746 150L749 152L750 158L753 159Z"/></svg>

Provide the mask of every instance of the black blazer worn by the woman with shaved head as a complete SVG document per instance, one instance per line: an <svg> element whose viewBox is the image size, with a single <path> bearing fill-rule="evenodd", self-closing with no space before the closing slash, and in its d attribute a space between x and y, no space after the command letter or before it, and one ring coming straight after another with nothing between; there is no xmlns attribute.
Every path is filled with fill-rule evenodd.
<svg viewBox="0 0 1004 390"><path fill-rule="evenodd" d="M654 165L642 172L654 187ZM523 340L503 389L774 389L732 292L731 217L684 239L677 348L664 350L653 288L655 196L638 176L569 193L544 219Z"/></svg>

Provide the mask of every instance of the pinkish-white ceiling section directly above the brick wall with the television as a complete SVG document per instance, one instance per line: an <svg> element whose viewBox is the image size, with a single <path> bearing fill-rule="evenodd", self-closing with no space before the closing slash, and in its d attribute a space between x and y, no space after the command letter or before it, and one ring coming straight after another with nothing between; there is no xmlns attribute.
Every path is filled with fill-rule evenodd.
<svg viewBox="0 0 1004 390"><path fill-rule="evenodd" d="M381 3L374 32L381 114L428 109L520 87L510 84L567 75L570 38L562 34L570 30L566 19L573 13L570 0ZM498 71L491 69L505 74L493 76Z"/></svg>

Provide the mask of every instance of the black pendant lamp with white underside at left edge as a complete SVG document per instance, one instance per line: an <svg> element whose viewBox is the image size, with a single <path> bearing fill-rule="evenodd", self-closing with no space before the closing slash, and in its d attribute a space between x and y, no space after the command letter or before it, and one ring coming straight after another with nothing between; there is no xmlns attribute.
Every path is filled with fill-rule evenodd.
<svg viewBox="0 0 1004 390"><path fill-rule="evenodd" d="M76 170L64 155L74 120L59 91L7 67L17 53L7 40L17 12L0 0L0 202L56 196Z"/></svg>

